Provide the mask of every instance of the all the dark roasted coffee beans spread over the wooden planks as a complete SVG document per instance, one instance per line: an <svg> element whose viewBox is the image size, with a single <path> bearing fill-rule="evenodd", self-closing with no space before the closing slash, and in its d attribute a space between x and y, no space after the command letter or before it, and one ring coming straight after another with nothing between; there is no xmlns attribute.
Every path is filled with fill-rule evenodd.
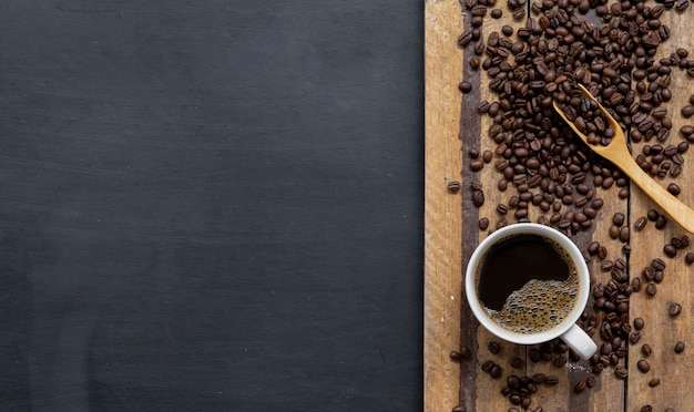
<svg viewBox="0 0 694 412"><path fill-rule="evenodd" d="M503 25L488 33L483 31L487 11L491 10L493 19L501 18L506 11L497 8L496 0L463 2L469 19L458 43L466 50L466 70L482 71L489 80L488 94L493 96L477 104L477 112L491 121L483 131L493 142L491 151L484 151L481 156L480 151L471 150L468 166L476 174L491 164L499 176L494 187L482 188L474 181L469 196L477 207L484 205L484 190L496 189L496 195L503 194L506 198L492 205L493 216L479 218L479 230L493 231L513 222L534 220L573 236L593 228L593 220L604 205L599 197L601 192L614 188L619 198L629 197L626 177L573 134L554 112L552 102L588 136L589 144L605 146L616 131L599 110L599 102L627 134L636 164L677 196L681 188L675 179L683 174L683 155L694 143L694 125L673 132L673 110L665 103L672 100L670 86L673 75L680 75L676 72L694 78L694 59L684 48L674 49L664 59L656 60L655 55L661 44L673 41L661 17L686 10L690 0L656 0L655 4L624 0L609 6L606 0L530 1L530 4L525 0L507 2L514 20L530 16L523 27L516 30ZM598 102L583 96L579 83ZM462 93L473 91L469 81L459 87ZM694 96L688 105L676 111L685 119L693 116ZM633 234L651 225L663 229L667 218L649 210L630 227L625 216L616 214L609 235L622 244L621 250L627 258ZM663 246L663 257L674 258L688 246L687 236L673 237ZM635 363L639 372L652 373L646 358L653 349L641 343L645 322L642 318L630 321L629 303L633 293L655 297L656 285L663 281L666 268L665 261L656 257L640 275L630 277L626 260L608 259L608 248L598 241L591 243L583 256L586 261L599 259L600 270L609 272L610 278L604 284L593 279L591 303L578 321L600 344L598 353L590 359L593 373L574 383L576 394L593 388L595 375L608 368L618 379L627 379L624 358L629 348L636 344L641 344L642 357ZM694 253L686 253L684 260L694 264ZM669 307L673 321L681 310L680 303ZM496 350L497 346L488 348L493 354L492 348ZM684 342L677 342L674 351L682 353ZM559 339L532 347L528 356L531 362L549 362L557 368L579 361ZM518 364L511 361L512 369ZM481 363L490 374L494 365L501 371L492 360ZM501 393L512 404L509 411L521 408L532 411L531 396L538 387L557 382L557 377L510 374ZM659 378L652 378L649 384L655 388L660 382ZM642 410L651 406L644 405Z"/></svg>

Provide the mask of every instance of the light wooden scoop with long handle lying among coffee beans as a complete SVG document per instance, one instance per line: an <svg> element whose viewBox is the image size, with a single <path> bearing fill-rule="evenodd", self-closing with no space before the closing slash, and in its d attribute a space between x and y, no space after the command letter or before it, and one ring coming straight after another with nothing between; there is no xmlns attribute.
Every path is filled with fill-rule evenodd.
<svg viewBox="0 0 694 412"><path fill-rule="evenodd" d="M677 222L688 233L694 233L694 210L688 208L685 204L677 200L675 196L670 194L663 186L651 178L631 156L626 148L626 138L620 124L608 113L605 107L598 102L595 97L581 84L579 89L584 96L591 99L598 103L600 111L610 122L610 127L614 131L614 136L608 146L589 144L588 138L581 133L573 122L567 119L564 112L559 107L557 102L552 102L554 110L567 122L575 134L581 137L583 142L595 153L612 162L615 166L622 169L629 178L635 183L646 195L649 195L653 202L659 204L663 210L665 210L675 222Z"/></svg>

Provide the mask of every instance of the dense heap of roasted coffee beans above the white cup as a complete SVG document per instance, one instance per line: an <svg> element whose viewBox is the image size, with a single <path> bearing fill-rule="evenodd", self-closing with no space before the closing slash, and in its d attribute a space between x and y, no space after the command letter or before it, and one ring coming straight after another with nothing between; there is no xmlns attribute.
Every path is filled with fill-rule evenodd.
<svg viewBox="0 0 694 412"><path fill-rule="evenodd" d="M523 4L513 0L508 6L514 12L524 10ZM672 99L673 71L694 75L694 59L683 48L666 59L654 58L671 37L670 28L660 21L671 9L667 3L651 7L625 0L608 7L603 0L534 0L523 28L514 32L506 25L487 34L482 20L494 6L490 0L466 1L470 27L458 39L471 54L470 69L487 73L489 90L497 97L477 106L492 120L487 133L496 144L497 188L509 194L510 213L498 217L492 230L510 219L530 222L534 216L538 223L575 234L592 227L596 187L616 186L621 198L629 196L621 172L578 141L554 113L553 101L591 143L610 144L615 131L576 83L584 84L629 130L631 142L657 141L635 155L644 171L659 178L680 176L682 154L694 142L694 126L682 127L680 135L671 133L672 120L663 103ZM590 10L599 18L595 23L584 19ZM462 82L460 90L470 92L472 85ZM694 113L694 97L691 103L683 109L686 113ZM469 167L479 172L490 161L473 158ZM681 192L675 183L669 189L675 195ZM484 204L482 189L471 196L474 206ZM486 230L489 225L481 227Z"/></svg>

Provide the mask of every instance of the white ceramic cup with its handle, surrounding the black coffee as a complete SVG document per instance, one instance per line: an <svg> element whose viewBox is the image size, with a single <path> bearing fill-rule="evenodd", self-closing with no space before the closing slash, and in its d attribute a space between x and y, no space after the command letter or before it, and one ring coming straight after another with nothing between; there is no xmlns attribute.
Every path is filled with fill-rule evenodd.
<svg viewBox="0 0 694 412"><path fill-rule="evenodd" d="M574 306L561 322L549 330L520 333L504 329L489 317L488 311L478 297L478 266L483 262L483 258L491 246L513 235L538 235L549 238L570 256L575 269L578 270L579 292L574 299ZM581 255L579 248L559 230L539 224L519 223L493 231L484 240L482 240L482 243L480 243L477 249L472 253L472 257L470 258L466 270L465 288L468 302L470 303L470 309L472 310L472 313L474 313L474 317L484 328L487 328L487 330L506 341L518 344L534 344L547 342L554 338L561 338L583 359L589 359L598 350L595 342L593 342L593 340L578 325L575 325L576 320L579 320L581 313L583 312L590 293L590 275L588 266L585 265L585 260L583 260L583 255Z"/></svg>

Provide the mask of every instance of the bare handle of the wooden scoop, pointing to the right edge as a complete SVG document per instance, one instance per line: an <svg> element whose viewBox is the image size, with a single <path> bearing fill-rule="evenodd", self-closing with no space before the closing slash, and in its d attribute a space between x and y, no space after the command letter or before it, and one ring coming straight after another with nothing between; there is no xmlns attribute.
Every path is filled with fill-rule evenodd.
<svg viewBox="0 0 694 412"><path fill-rule="evenodd" d="M694 210L651 178L631 156L620 156L612 162L686 231L694 234Z"/></svg>

